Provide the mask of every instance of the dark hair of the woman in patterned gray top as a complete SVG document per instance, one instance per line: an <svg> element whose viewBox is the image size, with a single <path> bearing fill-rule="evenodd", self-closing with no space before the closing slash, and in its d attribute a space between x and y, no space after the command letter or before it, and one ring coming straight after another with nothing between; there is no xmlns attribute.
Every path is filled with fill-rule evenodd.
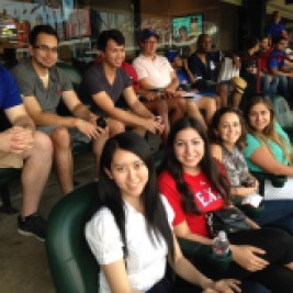
<svg viewBox="0 0 293 293"><path fill-rule="evenodd" d="M227 113L233 113L233 114L237 115L239 119L240 127L241 127L241 135L239 136L238 140L236 142L236 146L239 148L239 150L243 150L246 146L247 132L246 132L246 126L245 126L243 113L237 108L224 106L224 108L218 109L215 112L215 114L213 115L213 117L210 122L210 125L209 125L209 129L207 129L209 138L210 138L211 143L223 146L223 140L219 137L219 135L217 134L217 129L218 129L218 125L219 125L219 121L221 121L222 116L227 114Z"/></svg>

